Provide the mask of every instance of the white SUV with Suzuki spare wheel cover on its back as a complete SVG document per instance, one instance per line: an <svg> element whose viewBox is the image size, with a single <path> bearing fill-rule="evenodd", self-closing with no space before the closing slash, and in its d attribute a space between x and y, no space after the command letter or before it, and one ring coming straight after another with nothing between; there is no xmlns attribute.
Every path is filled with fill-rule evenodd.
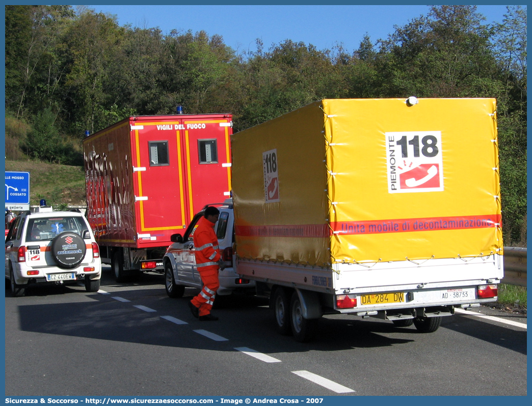
<svg viewBox="0 0 532 406"><path fill-rule="evenodd" d="M30 283L84 281L87 292L99 290L102 261L87 219L79 212L23 212L11 223L5 240L5 277L13 296Z"/></svg>

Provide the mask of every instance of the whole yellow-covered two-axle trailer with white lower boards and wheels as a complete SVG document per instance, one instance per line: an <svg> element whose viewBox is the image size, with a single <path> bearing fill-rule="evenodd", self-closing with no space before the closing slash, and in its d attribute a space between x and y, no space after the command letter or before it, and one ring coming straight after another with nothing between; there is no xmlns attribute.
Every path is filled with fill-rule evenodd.
<svg viewBox="0 0 532 406"><path fill-rule="evenodd" d="M306 324L350 312L434 331L496 300L495 99L324 99L231 145L238 273L288 317L295 293Z"/></svg>

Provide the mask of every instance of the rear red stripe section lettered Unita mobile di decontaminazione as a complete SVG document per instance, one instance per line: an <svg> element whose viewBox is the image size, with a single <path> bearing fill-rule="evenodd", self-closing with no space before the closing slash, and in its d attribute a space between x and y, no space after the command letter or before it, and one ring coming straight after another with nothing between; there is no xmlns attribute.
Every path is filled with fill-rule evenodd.
<svg viewBox="0 0 532 406"><path fill-rule="evenodd" d="M400 218L331 223L334 234L407 233L415 231L467 230L500 227L501 215Z"/></svg>

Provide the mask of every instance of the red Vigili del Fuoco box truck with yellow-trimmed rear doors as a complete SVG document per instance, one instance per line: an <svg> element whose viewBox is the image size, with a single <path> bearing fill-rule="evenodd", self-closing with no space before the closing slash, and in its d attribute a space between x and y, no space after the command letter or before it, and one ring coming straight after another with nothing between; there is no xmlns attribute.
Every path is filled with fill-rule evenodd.
<svg viewBox="0 0 532 406"><path fill-rule="evenodd" d="M164 272L170 236L230 191L231 114L128 117L83 141L87 218L117 281Z"/></svg>

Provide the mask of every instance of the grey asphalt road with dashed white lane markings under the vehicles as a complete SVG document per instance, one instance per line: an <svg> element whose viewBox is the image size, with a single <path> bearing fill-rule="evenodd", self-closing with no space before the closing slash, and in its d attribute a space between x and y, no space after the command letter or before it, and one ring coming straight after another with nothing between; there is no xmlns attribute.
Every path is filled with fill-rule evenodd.
<svg viewBox="0 0 532 406"><path fill-rule="evenodd" d="M414 326L327 316L311 343L275 331L267 302L224 298L218 322L170 299L163 276L101 291L36 286L5 299L6 396L526 395L527 331L493 319ZM526 316L491 309L499 319Z"/></svg>

